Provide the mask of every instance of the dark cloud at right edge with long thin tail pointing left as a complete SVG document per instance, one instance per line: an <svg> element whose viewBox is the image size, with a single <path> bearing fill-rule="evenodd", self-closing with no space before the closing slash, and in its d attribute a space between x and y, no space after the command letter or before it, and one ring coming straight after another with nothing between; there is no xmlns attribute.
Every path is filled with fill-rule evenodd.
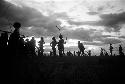
<svg viewBox="0 0 125 84"><path fill-rule="evenodd" d="M71 25L91 25L91 26L105 26L106 28L114 28L114 31L121 29L121 24L125 23L125 12L119 14L101 14L99 21L75 22L68 21ZM108 30L108 29L107 29Z"/></svg>

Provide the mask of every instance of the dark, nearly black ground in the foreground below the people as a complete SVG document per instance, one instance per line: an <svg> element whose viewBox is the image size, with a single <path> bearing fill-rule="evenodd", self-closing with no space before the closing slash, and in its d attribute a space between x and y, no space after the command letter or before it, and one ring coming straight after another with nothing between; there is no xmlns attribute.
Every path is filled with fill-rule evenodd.
<svg viewBox="0 0 125 84"><path fill-rule="evenodd" d="M13 63L11 78L17 84L125 83L125 57L34 57L22 60Z"/></svg>

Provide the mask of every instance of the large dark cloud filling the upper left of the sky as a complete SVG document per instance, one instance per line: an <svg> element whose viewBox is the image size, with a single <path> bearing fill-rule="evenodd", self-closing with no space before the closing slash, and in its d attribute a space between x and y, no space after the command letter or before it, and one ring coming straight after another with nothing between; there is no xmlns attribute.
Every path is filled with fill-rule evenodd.
<svg viewBox="0 0 125 84"><path fill-rule="evenodd" d="M58 31L56 25L60 24L60 22L56 20L57 18L44 16L34 8L25 5L18 7L3 0L0 1L0 11L0 29L4 29L5 26L7 27L9 25L8 20L10 23L18 21L22 24L22 28L32 26L35 28L32 32L36 33L36 35L42 35L40 31L45 30L47 30L48 33L56 33Z"/></svg>

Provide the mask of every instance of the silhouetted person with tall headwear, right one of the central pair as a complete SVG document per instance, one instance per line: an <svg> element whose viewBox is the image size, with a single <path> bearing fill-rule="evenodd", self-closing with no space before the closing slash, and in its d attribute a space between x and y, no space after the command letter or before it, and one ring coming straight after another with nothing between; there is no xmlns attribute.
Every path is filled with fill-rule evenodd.
<svg viewBox="0 0 125 84"><path fill-rule="evenodd" d="M59 42L58 42L58 50L59 50L59 56L62 56L64 54L64 44L66 42L64 42L63 36L60 34L59 35Z"/></svg>

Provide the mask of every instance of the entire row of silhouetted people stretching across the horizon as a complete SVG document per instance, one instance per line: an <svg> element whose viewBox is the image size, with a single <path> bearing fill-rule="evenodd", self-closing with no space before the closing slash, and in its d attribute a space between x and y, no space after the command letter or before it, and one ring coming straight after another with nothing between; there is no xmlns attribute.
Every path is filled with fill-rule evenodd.
<svg viewBox="0 0 125 84"><path fill-rule="evenodd" d="M43 49L43 45L45 44L44 42L44 38L41 37L40 41L38 42L39 47L36 47L36 40L34 37L32 37L31 40L29 40L28 38L26 40L24 40L25 36L24 35L20 35L19 33L19 29L21 27L21 24L19 22L15 22L13 24L13 27L15 28L14 32L12 32L10 34L10 36L8 35L8 32L5 32L1 34L0 36L0 51L2 51L3 53L8 52L9 54L12 55L24 55L24 54L32 54L35 55L36 54L36 48L38 51L38 56L43 56L44 54L44 49ZM9 39L8 39L9 38ZM56 46L58 46L58 51L59 51L59 56L63 56L65 55L64 53L64 44L66 44L66 42L63 39L63 36L60 34L59 35L59 41L57 42L55 37L52 37L52 42L50 43L50 46L52 47L52 52L50 52L50 56L56 56ZM77 54L78 56L85 56L85 47L84 45L78 41L78 48L79 51L75 52L72 54L70 51L67 52L67 56L76 56L75 54ZM112 44L110 44L110 56L112 56L112 51L113 51L113 46ZM91 50L86 51L87 52L87 56L91 56ZM120 45L119 46L119 55L123 56L123 48ZM101 52L100 52L100 56L108 56L108 53L105 49L101 48Z"/></svg>

